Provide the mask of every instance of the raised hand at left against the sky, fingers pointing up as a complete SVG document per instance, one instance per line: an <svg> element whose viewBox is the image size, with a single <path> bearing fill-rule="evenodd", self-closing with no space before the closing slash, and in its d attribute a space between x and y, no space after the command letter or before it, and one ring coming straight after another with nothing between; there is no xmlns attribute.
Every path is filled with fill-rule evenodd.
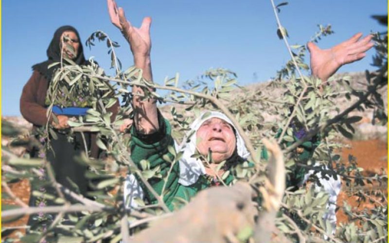
<svg viewBox="0 0 389 243"><path fill-rule="evenodd" d="M136 28L126 19L123 8L117 8L115 0L107 0L107 4L111 22L122 31L125 39L130 44L131 52L134 55L134 58L150 56L151 18L143 18L141 28Z"/></svg>

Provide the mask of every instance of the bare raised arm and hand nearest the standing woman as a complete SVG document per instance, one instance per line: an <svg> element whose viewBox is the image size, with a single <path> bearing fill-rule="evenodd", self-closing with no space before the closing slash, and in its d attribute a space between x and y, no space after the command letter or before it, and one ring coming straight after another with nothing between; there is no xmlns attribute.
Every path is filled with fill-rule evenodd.
<svg viewBox="0 0 389 243"><path fill-rule="evenodd" d="M130 45L132 55L134 57L134 65L143 70L143 78L152 82L153 76L151 72L151 39L150 25L151 18L143 18L140 28L136 28L126 19L124 10L117 8L114 0L107 0L108 13L111 22L121 30L124 38ZM142 134L151 134L159 129L157 104L154 99L143 100L141 96L144 92L140 87L132 87L134 94L133 105L135 109L135 126Z"/></svg>

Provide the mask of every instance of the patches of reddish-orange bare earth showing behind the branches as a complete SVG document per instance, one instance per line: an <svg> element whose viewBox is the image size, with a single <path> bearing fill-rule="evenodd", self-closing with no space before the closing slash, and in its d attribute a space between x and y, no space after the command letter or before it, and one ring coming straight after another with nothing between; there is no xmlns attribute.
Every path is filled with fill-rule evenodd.
<svg viewBox="0 0 389 243"><path fill-rule="evenodd" d="M388 144L381 140L359 140L359 141L351 141L351 148L344 148L342 150L342 160L348 161L348 156L351 154L356 157L357 163L359 167L364 168L364 175L369 176L372 173L381 173L381 168L384 169L385 173L388 173ZM10 185L11 190L15 193L17 197L19 197L24 203L28 204L29 195L30 195L30 185L29 182L23 180L18 183L14 183ZM366 192L371 190L371 186L366 186ZM364 188L364 189L365 189ZM339 210L337 211L337 219L338 224L347 222L347 216L344 214L342 205L343 201L346 201L352 207L357 207L358 210L362 210L364 208L371 209L375 207L374 203L369 202L357 202L358 197L350 194L347 191L349 188L343 186L342 191L340 192L337 204ZM388 191L385 190L386 196L388 196ZM1 200L2 204L13 204L12 200ZM2 227L6 226L25 226L27 223L28 217L23 217L18 221L2 224ZM25 230L20 230L23 234ZM16 237L17 235L14 232L12 236Z"/></svg>

